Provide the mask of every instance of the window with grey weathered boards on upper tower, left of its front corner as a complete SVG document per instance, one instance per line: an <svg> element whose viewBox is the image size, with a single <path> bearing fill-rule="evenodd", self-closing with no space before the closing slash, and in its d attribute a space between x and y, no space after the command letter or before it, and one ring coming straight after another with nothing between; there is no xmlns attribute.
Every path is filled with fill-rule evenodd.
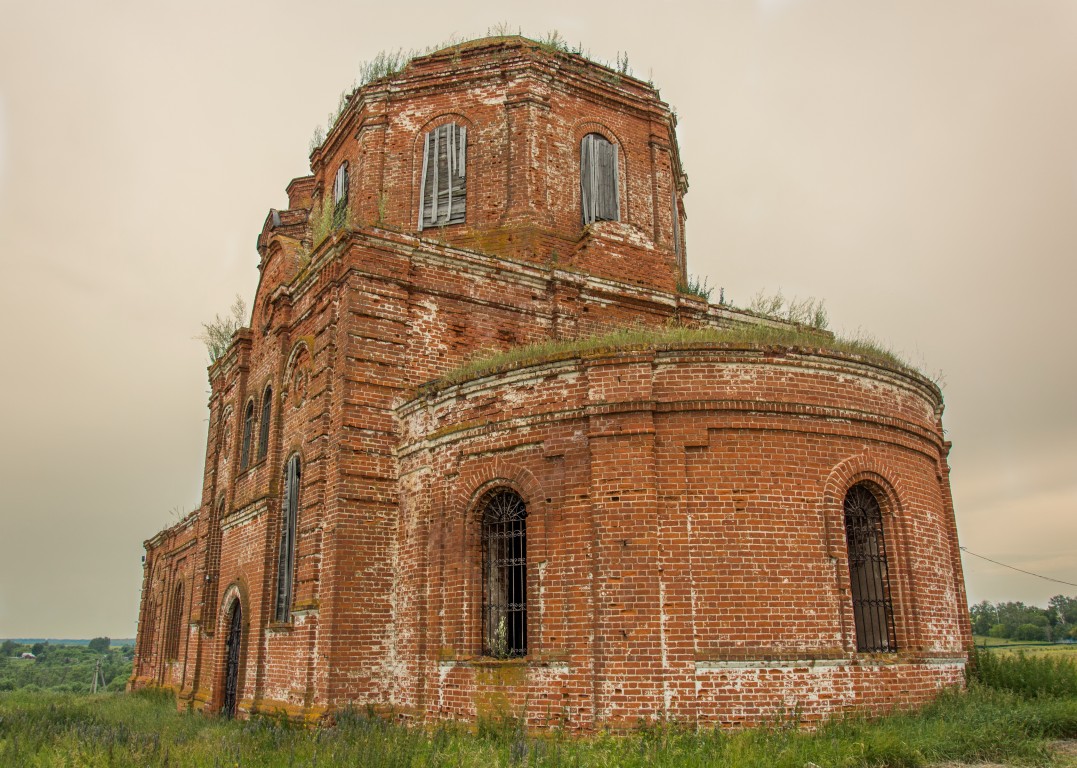
<svg viewBox="0 0 1077 768"><path fill-rule="evenodd" d="M467 203L467 128L456 123L426 134L422 148L419 228L462 224Z"/></svg>

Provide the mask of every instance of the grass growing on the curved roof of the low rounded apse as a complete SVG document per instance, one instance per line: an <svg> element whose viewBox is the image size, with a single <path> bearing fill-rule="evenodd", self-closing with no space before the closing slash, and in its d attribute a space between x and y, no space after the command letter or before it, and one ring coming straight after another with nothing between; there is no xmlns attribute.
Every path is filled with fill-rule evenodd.
<svg viewBox="0 0 1077 768"><path fill-rule="evenodd" d="M875 339L866 336L843 338L808 329L774 327L763 323L738 325L729 329L691 329L668 325L660 329L621 329L598 336L587 336L570 340L541 341L538 344L514 347L503 352L480 352L463 365L433 381L429 387L432 389L442 389L508 367L568 360L582 354L679 349L709 344L824 349L857 354L871 362L887 366L910 367L908 363L896 354L882 347Z"/></svg>

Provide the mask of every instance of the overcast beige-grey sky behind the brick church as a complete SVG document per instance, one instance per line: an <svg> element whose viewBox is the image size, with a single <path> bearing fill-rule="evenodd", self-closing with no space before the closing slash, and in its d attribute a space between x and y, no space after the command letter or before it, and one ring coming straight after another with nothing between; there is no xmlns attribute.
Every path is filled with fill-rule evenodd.
<svg viewBox="0 0 1077 768"><path fill-rule="evenodd" d="M379 51L500 22L627 51L689 270L941 377L962 544L1077 583L1077 2L0 0L0 637L134 636L142 541L200 498L194 337L314 126ZM964 562L971 601L1077 595Z"/></svg>

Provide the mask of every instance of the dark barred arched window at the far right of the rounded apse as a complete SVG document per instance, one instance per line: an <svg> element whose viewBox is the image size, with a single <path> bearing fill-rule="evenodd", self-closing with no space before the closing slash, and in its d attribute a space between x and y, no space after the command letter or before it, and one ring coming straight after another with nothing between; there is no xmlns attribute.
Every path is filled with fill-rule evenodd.
<svg viewBox="0 0 1077 768"><path fill-rule="evenodd" d="M844 506L856 650L865 653L897 651L879 500L866 484L858 483L845 493Z"/></svg>

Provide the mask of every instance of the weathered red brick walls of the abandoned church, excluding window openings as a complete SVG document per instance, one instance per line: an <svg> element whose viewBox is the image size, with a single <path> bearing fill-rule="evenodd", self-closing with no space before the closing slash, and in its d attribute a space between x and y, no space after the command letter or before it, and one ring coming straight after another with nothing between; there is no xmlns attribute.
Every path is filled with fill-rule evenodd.
<svg viewBox="0 0 1077 768"><path fill-rule="evenodd" d="M466 222L419 233L422 137L449 121L468 128ZM201 505L146 542L132 685L220 709L237 602L240 713L741 724L960 682L948 445L938 390L915 374L710 346L429 386L482 350L753 321L674 290L672 128L649 86L520 39L439 52L352 98L258 238L251 327L210 368ZM592 130L620 150L621 221L585 228ZM346 222L326 228L345 159ZM277 622L294 455L293 600ZM884 498L896 654L852 638L841 504L861 480ZM476 503L499 485L528 507L529 654L509 661L481 656Z"/></svg>

